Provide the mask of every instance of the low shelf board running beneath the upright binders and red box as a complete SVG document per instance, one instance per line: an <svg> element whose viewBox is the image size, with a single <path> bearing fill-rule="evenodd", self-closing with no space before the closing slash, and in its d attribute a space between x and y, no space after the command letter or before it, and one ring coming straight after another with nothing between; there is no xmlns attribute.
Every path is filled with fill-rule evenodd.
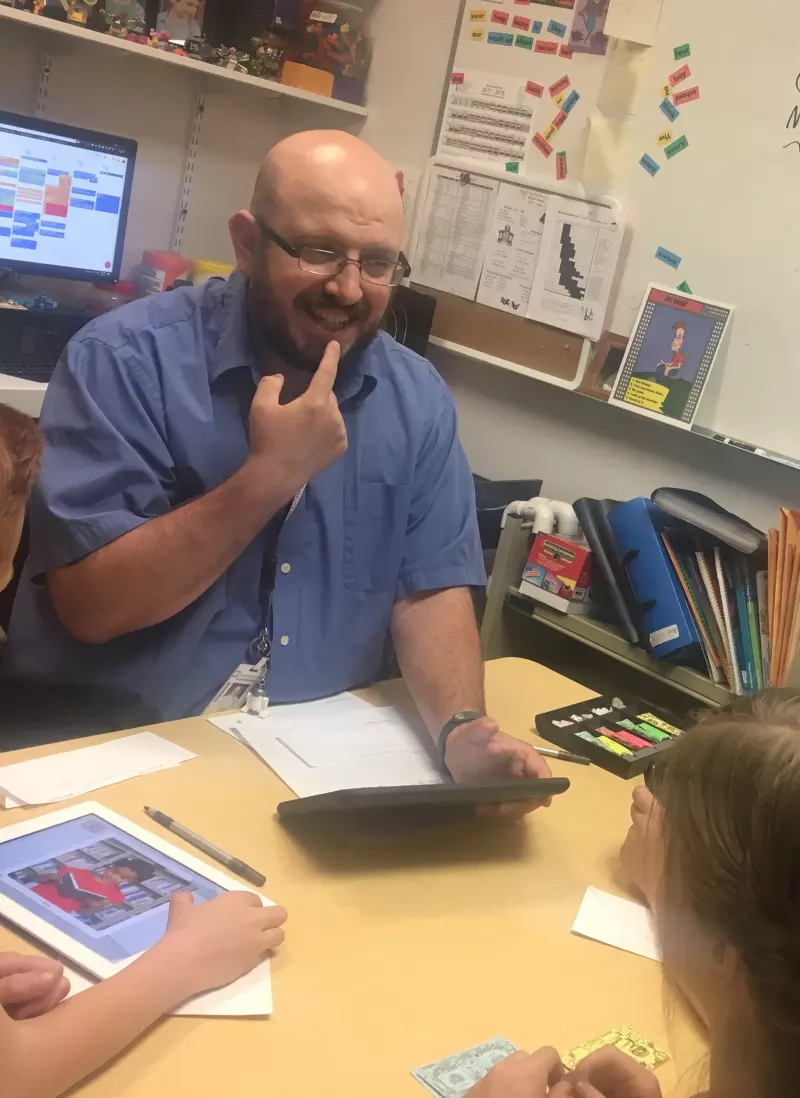
<svg viewBox="0 0 800 1098"><path fill-rule="evenodd" d="M514 598L512 603L508 602L510 598ZM731 692L725 686L718 686L707 675L692 671L691 668L680 668L664 660L654 660L644 649L630 645L613 626L576 614L561 614L521 594L516 587L508 587L506 600L509 608L516 613L536 618L548 628L572 637L598 652L605 652L620 663L635 668L653 679L667 682L699 702L718 706L726 705L731 701Z"/></svg>

